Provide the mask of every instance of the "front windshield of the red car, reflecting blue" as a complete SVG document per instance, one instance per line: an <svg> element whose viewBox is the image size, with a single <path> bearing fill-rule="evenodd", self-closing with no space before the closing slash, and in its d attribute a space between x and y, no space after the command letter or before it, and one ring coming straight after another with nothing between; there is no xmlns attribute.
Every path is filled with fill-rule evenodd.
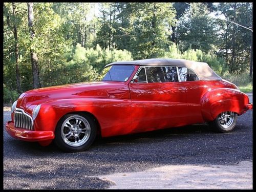
<svg viewBox="0 0 256 192"><path fill-rule="evenodd" d="M104 68L96 81L121 81L125 82L129 79L134 71L134 66L113 65Z"/></svg>

